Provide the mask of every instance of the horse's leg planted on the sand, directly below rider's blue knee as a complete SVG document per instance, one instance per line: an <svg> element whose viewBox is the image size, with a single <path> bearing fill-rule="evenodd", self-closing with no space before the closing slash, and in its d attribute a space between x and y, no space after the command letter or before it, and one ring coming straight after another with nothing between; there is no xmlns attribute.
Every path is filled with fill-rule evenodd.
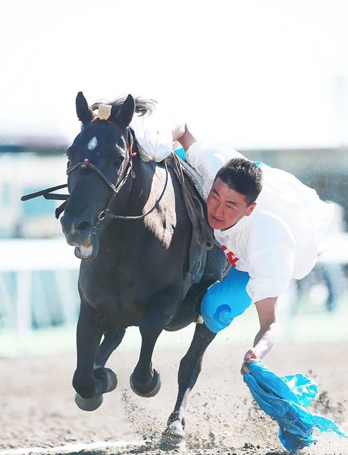
<svg viewBox="0 0 348 455"><path fill-rule="evenodd" d="M162 434L160 448L162 450L185 448L185 411L188 394L193 388L201 372L203 354L216 334L205 324L197 324L191 345L180 361L178 372L178 396L174 411L170 415L167 428Z"/></svg>

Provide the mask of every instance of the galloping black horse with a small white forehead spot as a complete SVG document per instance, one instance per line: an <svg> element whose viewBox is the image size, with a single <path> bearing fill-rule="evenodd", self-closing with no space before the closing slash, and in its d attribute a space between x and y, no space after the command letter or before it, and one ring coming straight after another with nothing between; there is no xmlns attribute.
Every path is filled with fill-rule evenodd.
<svg viewBox="0 0 348 455"><path fill-rule="evenodd" d="M139 326L142 338L131 388L144 397L160 390L160 376L152 366L157 338L162 330L179 330L197 320L198 296L221 279L225 265L220 262L209 279L203 277L190 288L192 226L179 181L163 163L139 158L129 128L134 111L145 112L151 103L135 102L129 95L110 105L110 117L101 120L83 94L77 95L82 129L67 150L70 197L61 219L68 244L82 259L73 387L77 405L86 411L96 409L103 393L116 387L116 375L105 364L129 326ZM139 216L145 212L150 213ZM163 448L184 444L187 394L214 336L204 324L196 325L180 362L178 397L162 436Z"/></svg>

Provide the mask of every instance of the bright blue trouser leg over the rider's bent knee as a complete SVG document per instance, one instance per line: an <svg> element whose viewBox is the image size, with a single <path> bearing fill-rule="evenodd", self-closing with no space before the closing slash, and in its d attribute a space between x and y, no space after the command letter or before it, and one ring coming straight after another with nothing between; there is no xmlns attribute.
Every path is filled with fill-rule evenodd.
<svg viewBox="0 0 348 455"><path fill-rule="evenodd" d="M221 282L210 286L201 303L201 314L208 329L219 332L251 305L252 299L245 289L249 279L247 272L231 267Z"/></svg>

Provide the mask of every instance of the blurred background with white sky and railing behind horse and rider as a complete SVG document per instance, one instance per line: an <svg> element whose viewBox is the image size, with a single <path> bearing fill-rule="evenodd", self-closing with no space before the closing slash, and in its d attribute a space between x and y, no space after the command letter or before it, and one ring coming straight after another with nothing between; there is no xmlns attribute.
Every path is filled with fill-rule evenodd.
<svg viewBox="0 0 348 455"><path fill-rule="evenodd" d="M346 341L347 13L337 0L3 6L0 355L75 349L79 260L55 219L59 201L20 197L65 183L79 90L90 104L154 98L199 139L228 142L332 201L330 248L282 297L281 339ZM257 331L250 309L223 337L251 342Z"/></svg>

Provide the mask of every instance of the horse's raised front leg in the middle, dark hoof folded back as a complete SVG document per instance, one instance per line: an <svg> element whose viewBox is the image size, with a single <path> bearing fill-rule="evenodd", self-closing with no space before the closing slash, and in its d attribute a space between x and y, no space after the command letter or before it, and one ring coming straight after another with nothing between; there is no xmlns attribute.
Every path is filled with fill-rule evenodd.
<svg viewBox="0 0 348 455"><path fill-rule="evenodd" d="M176 286L158 293L139 324L141 349L138 363L130 376L130 386L137 395L155 396L161 388L159 373L153 369L152 355L164 327L170 322L179 302Z"/></svg>

